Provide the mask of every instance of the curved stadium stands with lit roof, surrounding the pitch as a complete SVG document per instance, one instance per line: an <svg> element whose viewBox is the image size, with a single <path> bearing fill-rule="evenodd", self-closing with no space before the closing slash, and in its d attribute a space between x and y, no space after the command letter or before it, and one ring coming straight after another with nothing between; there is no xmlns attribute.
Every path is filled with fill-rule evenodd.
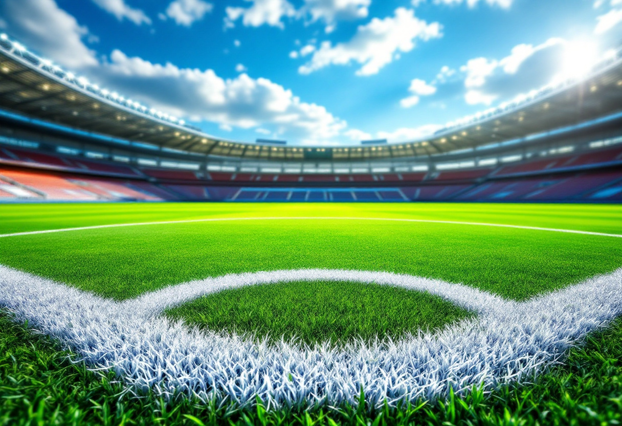
<svg viewBox="0 0 622 426"><path fill-rule="evenodd" d="M2 201L622 202L622 50L425 140L244 143L0 35Z"/></svg>

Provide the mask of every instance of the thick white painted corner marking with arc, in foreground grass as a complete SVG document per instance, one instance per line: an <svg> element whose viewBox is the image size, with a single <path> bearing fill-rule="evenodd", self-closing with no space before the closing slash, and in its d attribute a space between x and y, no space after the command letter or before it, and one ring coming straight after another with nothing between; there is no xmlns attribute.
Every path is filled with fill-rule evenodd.
<svg viewBox="0 0 622 426"><path fill-rule="evenodd" d="M200 295L244 285L298 280L375 282L425 290L475 310L478 317L437 333L399 341L270 345L240 336L188 329L161 315ZM484 384L524 381L558 361L587 333L622 313L622 268L523 303L460 284L384 272L284 270L207 278L116 302L0 265L0 306L59 339L97 369L110 369L129 389L171 397L269 407L369 404L432 399Z"/></svg>

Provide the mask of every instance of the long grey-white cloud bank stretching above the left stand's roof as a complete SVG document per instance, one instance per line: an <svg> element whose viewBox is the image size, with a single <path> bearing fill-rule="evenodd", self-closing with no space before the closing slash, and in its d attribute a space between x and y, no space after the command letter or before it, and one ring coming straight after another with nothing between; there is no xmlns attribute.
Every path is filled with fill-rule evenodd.
<svg viewBox="0 0 622 426"><path fill-rule="evenodd" d="M326 108L302 102L291 90L267 78L241 73L225 79L211 69L154 64L121 50L113 50L100 62L81 40L88 30L53 0L5 0L0 8L9 31L29 47L72 67L100 87L171 115L212 121L225 130L271 126L276 135L307 143L330 140L346 128L346 122Z"/></svg>

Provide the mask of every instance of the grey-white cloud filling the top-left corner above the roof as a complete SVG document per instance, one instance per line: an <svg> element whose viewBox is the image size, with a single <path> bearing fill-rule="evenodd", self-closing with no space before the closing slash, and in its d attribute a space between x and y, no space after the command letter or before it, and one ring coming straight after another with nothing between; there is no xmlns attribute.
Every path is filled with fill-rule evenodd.
<svg viewBox="0 0 622 426"><path fill-rule="evenodd" d="M82 41L88 29L53 0L4 0L0 14L14 37L59 64L70 69L97 64L95 52Z"/></svg>

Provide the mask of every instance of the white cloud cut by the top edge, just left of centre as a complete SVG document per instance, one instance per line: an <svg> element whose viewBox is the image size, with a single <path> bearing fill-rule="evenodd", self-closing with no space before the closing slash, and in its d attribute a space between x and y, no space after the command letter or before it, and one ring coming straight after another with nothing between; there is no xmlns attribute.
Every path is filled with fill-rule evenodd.
<svg viewBox="0 0 622 426"><path fill-rule="evenodd" d="M227 7L225 9L225 27L234 26L234 22L242 19L245 27L259 27L269 25L284 28L282 19L294 17L294 6L287 0L245 0L252 2L250 7Z"/></svg>

